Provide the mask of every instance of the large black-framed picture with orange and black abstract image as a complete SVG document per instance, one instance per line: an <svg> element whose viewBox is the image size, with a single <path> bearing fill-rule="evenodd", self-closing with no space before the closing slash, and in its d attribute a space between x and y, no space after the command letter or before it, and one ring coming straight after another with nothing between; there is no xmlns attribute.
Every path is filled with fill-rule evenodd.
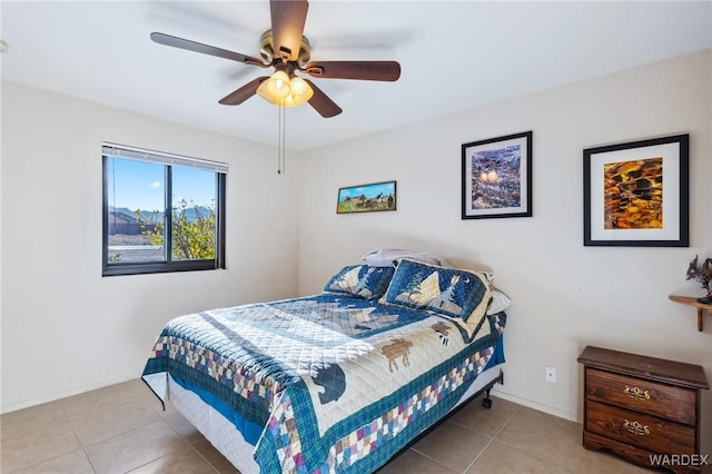
<svg viewBox="0 0 712 474"><path fill-rule="evenodd" d="M583 245L689 247L689 135L583 150Z"/></svg>

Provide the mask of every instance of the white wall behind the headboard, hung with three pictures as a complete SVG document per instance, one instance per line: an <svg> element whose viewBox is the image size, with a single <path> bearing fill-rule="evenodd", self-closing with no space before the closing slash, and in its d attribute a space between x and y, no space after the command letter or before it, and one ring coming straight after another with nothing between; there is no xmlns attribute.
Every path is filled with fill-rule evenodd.
<svg viewBox="0 0 712 474"><path fill-rule="evenodd" d="M372 248L436 251L491 267L513 299L504 397L581 419L586 345L699 364L712 382L712 317L699 333L694 309L668 299L698 292L688 263L712 256L711 59L708 50L305 154L299 293L319 292ZM533 217L462 220L461 145L526 130ZM690 134L690 248L584 247L583 149L676 134ZM336 215L339 187L392 179L395 213ZM710 391L702 406L702 453L712 453Z"/></svg>

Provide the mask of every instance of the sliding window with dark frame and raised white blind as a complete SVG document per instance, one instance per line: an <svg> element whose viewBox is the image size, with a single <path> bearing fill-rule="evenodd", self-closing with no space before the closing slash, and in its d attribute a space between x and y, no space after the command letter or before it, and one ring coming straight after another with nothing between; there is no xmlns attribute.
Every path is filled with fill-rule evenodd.
<svg viewBox="0 0 712 474"><path fill-rule="evenodd" d="M103 276L225 268L227 165L103 144Z"/></svg>

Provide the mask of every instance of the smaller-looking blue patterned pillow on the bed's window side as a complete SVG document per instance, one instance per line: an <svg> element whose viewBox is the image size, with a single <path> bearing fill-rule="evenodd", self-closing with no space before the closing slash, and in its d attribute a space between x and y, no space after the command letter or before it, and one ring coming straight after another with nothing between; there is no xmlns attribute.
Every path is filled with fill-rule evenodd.
<svg viewBox="0 0 712 474"><path fill-rule="evenodd" d="M365 299L378 299L383 296L393 277L392 267L370 267L350 265L342 268L324 287L324 293L358 296Z"/></svg>

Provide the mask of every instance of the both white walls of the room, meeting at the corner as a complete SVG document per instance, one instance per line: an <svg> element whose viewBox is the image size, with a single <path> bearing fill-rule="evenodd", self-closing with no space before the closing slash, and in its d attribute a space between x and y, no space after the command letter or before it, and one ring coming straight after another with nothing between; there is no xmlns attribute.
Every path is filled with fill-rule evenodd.
<svg viewBox="0 0 712 474"><path fill-rule="evenodd" d="M375 247L495 270L514 299L501 396L580 419L587 344L700 364L712 381L712 317L698 333L694 310L668 300L698 289L684 282L694 254L712 256L711 60L704 51L295 152L285 176L271 147L3 82L2 411L136 378L168 318L317 293ZM461 220L461 145L525 130L534 217ZM691 247L583 247L582 150L681 132ZM227 270L101 277L102 140L230 164ZM339 187L389 179L397 211L336 215ZM702 431L712 453L710 391Z"/></svg>

